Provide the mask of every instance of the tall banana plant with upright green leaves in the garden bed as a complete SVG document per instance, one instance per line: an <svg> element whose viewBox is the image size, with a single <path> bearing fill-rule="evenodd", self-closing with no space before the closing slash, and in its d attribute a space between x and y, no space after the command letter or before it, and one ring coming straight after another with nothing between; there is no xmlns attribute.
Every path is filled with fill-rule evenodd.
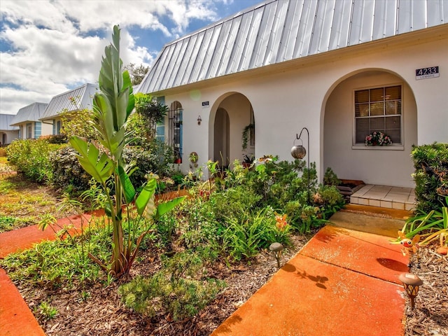
<svg viewBox="0 0 448 336"><path fill-rule="evenodd" d="M113 27L112 43L105 49L98 83L99 92L94 95L92 111L92 120L97 121L93 126L98 142L73 136L69 143L78 151L78 160L83 169L102 186L107 199L104 211L113 228L111 265L104 265L93 255L90 258L113 276L119 277L129 272L141 240L149 232L146 230L141 234L135 244L130 234L125 237L123 221L132 219L129 216L123 219L123 209L130 209L130 205L137 208L139 219L134 225L138 225L141 218L162 216L179 204L183 197L154 207L154 179L146 183L136 198L136 190L129 178L130 167L123 160L123 148L133 140L132 132L127 131L126 125L134 109L134 94L129 73L123 71L120 59L118 26Z"/></svg>

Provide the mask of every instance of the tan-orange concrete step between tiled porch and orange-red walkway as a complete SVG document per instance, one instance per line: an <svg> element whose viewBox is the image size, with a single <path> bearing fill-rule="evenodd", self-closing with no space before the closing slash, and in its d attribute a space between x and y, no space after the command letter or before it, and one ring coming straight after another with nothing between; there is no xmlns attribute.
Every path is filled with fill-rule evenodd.
<svg viewBox="0 0 448 336"><path fill-rule="evenodd" d="M396 238L398 230L403 228L406 219L411 216L412 213L409 211L348 204L345 209L330 217L329 224Z"/></svg>

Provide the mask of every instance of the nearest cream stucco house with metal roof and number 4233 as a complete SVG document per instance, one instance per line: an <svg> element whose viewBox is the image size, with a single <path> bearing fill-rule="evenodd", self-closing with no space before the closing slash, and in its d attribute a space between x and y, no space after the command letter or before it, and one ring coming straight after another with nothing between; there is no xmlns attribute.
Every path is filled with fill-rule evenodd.
<svg viewBox="0 0 448 336"><path fill-rule="evenodd" d="M448 0L269 0L165 45L137 91L171 108L163 132L184 170L191 152L292 160L307 127L320 181L331 167L412 187L412 145L448 142L447 20ZM365 146L374 131L393 144Z"/></svg>

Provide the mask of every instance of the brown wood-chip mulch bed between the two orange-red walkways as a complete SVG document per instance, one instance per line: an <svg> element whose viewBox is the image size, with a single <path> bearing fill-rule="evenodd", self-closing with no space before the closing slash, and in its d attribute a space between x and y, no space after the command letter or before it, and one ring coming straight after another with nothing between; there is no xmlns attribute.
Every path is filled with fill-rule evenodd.
<svg viewBox="0 0 448 336"><path fill-rule="evenodd" d="M282 262L286 262L311 239L309 235L293 236L293 246L283 250ZM153 274L160 267L156 251L148 249L141 260L153 262L136 262L130 277ZM218 325L230 316L238 307L248 300L258 288L277 271L276 260L269 251L262 251L248 262L235 262L228 267L225 262L215 262L208 269L211 277L223 279L227 287L218 294L209 306L202 309L193 318L173 321L169 314L160 313L154 318L141 316L130 311L118 295L120 282L109 286L93 283L92 286L76 289L59 288L48 290L44 287L29 288L26 284L16 284L31 310L37 310L42 301L46 301L58 311L57 316L45 321L43 316L35 314L45 334L68 335L210 335ZM130 279L123 279L124 282ZM88 293L87 300L82 300Z"/></svg>

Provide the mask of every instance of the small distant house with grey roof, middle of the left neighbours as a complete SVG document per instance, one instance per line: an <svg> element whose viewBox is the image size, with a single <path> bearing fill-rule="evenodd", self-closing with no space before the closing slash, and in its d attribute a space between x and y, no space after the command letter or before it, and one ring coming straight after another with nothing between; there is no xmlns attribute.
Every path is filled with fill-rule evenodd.
<svg viewBox="0 0 448 336"><path fill-rule="evenodd" d="M45 103L33 103L18 111L10 125L19 127L19 139L38 139L51 134L52 125L39 121L47 106Z"/></svg>

